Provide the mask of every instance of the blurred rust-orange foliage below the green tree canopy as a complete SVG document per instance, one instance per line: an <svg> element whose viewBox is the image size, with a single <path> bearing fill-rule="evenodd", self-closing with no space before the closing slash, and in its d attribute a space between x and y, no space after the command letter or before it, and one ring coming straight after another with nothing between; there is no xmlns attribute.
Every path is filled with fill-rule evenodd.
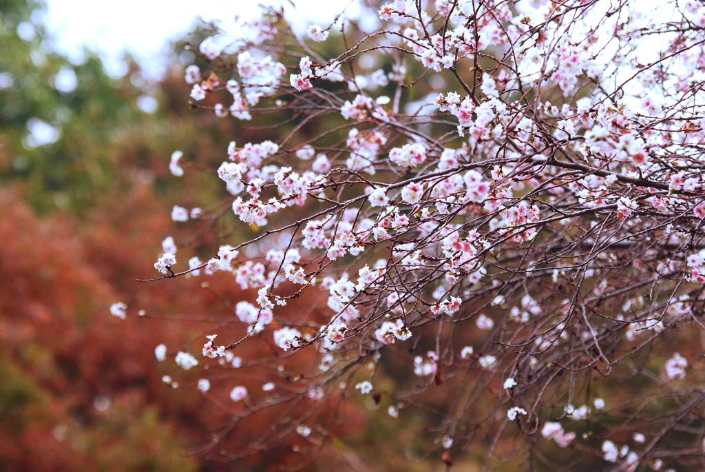
<svg viewBox="0 0 705 472"><path fill-rule="evenodd" d="M285 374L259 365L232 370L212 363L221 369L214 375L178 368L173 354L184 350L200 358L204 334L213 329L228 339L242 337L245 327L233 322L232 307L240 300L252 301L255 294L241 291L232 276L220 274L208 278L208 289L199 287L203 277L137 282L136 277L152 276L150 268L160 252L155 242L173 230L173 222L149 186L136 180L121 205L111 201L99 202L83 222L68 214L41 220L11 190L0 190L4 470L192 470L196 462L183 452L218 459L220 451L207 447L207 431L240 413L237 405L204 401L194 388L199 376L212 379L209 398L227 398L235 385L245 385L257 396L264 393L264 382L295 375L312 361L301 355L283 358ZM114 301L147 308L147 313L140 317L130 312L120 320L109 313ZM290 308L316 317L311 309L317 302L302 298ZM164 363L154 358L154 347L161 343L171 355ZM281 356L281 350L258 342L243 345L236 355L249 363ZM207 361L202 359L202 365ZM173 375L185 389L169 388L162 375ZM301 414L312 404L307 401L293 411ZM319 412L333 421L332 413ZM281 409L267 409L246 418L226 433L219 447L264 436L280 414ZM353 430L365 427L364 416L354 411L346 416ZM247 460L267 470L300 464L290 456L301 439L294 435ZM315 447L317 452L325 448ZM228 458L223 459L223 464L201 464L226 470Z"/></svg>

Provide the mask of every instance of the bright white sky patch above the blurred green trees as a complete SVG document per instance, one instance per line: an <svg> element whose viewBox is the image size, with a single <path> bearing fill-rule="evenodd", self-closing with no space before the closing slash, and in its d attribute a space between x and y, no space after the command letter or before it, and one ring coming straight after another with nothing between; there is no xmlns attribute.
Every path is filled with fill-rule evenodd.
<svg viewBox="0 0 705 472"><path fill-rule="evenodd" d="M121 75L120 58L130 52L145 75L164 70L168 42L183 37L198 18L220 20L226 27L235 15L257 15L257 4L281 4L295 24L327 26L350 0L46 0L45 22L58 52L80 62L82 47L101 54L106 71ZM354 6L353 6L354 8ZM357 8L349 13L357 12ZM310 18L304 20L303 18ZM327 23L326 23L327 22ZM302 29L300 26L298 29Z"/></svg>

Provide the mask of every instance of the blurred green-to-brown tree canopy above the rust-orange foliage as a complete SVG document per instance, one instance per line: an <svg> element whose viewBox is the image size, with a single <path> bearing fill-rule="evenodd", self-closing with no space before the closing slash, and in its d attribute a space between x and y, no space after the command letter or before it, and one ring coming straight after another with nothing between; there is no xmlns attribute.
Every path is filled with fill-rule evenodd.
<svg viewBox="0 0 705 472"><path fill-rule="evenodd" d="M157 190L168 191L159 177L176 146L209 151L223 131L200 133L214 128L210 120L189 138L198 122L183 101L178 58L179 71L161 84L145 80L130 56L128 73L111 78L93 52L76 54L80 63L54 52L43 16L38 1L0 0L0 183L41 214L85 212L134 178L156 178Z"/></svg>

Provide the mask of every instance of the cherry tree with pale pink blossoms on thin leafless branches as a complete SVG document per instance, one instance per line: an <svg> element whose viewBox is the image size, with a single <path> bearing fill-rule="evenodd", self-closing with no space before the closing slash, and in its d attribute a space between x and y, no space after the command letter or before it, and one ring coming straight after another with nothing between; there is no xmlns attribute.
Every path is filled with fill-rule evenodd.
<svg viewBox="0 0 705 472"><path fill-rule="evenodd" d="M231 279L221 331L156 351L230 415L200 452L305 464L367 396L449 468L703 466L705 4L361 8L192 45L191 107L262 136L217 168L171 158L221 179L175 225L237 219L154 265Z"/></svg>

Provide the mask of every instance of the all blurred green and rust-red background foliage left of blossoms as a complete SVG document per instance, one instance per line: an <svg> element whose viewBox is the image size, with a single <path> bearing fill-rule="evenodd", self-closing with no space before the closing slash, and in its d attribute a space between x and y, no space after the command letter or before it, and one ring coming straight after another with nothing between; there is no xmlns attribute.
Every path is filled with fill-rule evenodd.
<svg viewBox="0 0 705 472"><path fill-rule="evenodd" d="M163 318L228 310L194 289L197 279L135 280L152 277L166 236L188 246L199 234L191 223L171 222L173 205L221 206L214 172L197 170L215 169L231 140L254 141L261 131L189 108L183 68L199 59L180 54L183 44L174 46L178 54L160 83L142 78L129 57L128 73L111 78L91 52L73 63L53 52L42 16L38 1L0 0L0 471L269 471L300 464L290 460L291 444L236 462L191 454L229 412L204 401L195 370L184 373L173 358L158 363L154 347L195 352L210 327ZM183 178L168 172L174 150L184 152L191 170ZM190 245L206 251L221 242L204 236ZM233 291L232 280L214 277L212 285ZM235 289L233 302L241 298ZM109 314L115 301L149 313L119 320ZM162 375L190 383L171 389ZM325 470L369 470L345 443L389 433L363 435L372 421L367 411L360 405L346 413L343 439L319 451L330 456ZM246 428L255 430L240 436L266 424Z"/></svg>

